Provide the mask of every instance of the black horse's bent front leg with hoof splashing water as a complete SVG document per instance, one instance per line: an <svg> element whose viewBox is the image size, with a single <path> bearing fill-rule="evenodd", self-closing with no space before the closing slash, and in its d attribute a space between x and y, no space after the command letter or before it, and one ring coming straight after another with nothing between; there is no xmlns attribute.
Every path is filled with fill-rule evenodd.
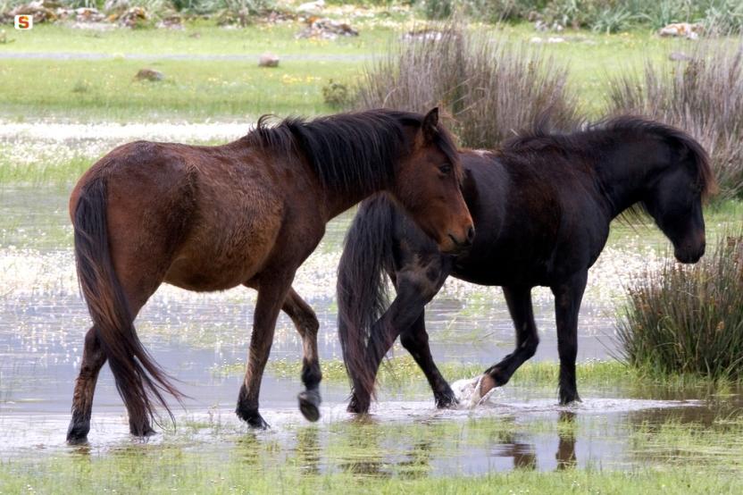
<svg viewBox="0 0 743 495"><path fill-rule="evenodd" d="M534 356L539 344L537 324L534 323L534 312L531 306L531 288L507 286L503 288L503 293L508 312L513 319L513 327L516 330L516 348L485 372L489 380L483 380L480 388L481 395L511 380L519 366Z"/></svg>

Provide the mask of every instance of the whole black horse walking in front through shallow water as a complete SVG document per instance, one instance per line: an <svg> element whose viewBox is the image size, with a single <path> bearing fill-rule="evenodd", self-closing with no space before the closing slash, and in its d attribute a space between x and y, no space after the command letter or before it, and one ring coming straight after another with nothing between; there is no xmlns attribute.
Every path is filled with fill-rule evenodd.
<svg viewBox="0 0 743 495"><path fill-rule="evenodd" d="M503 287L516 348L485 371L480 395L504 385L537 350L531 289L555 295L560 403L575 383L578 313L589 268L620 214L644 210L681 263L705 252L703 199L714 177L703 147L685 132L623 116L571 134L522 132L494 151L463 151L464 200L477 235L459 256L439 252L387 195L366 200L338 268L338 329L354 395L364 413L380 362L397 336L428 379L438 407L456 403L430 355L424 306L452 274ZM388 273L397 298L386 307Z"/></svg>

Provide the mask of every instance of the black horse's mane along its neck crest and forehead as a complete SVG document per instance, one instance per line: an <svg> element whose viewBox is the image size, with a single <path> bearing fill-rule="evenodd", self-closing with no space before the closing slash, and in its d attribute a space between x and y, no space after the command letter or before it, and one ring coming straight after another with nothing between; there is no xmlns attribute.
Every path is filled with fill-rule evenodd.
<svg viewBox="0 0 743 495"><path fill-rule="evenodd" d="M592 153L597 143L610 144L626 133L652 134L689 154L690 162L696 168L697 185L702 197L714 194L716 182L709 155L695 138L683 130L661 122L635 115L622 115L603 121L590 123L582 130L570 133L551 133L548 130L548 117L540 117L530 130L521 130L513 138L506 139L503 152L523 153L555 148L565 152Z"/></svg>

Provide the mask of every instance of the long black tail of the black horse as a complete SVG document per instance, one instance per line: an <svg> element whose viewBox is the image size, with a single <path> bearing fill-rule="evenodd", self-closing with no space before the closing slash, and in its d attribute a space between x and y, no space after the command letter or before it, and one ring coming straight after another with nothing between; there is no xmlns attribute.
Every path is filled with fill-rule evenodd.
<svg viewBox="0 0 743 495"><path fill-rule="evenodd" d="M387 277L393 263L396 206L384 194L363 201L346 234L338 265L338 334L354 390L374 391L366 358L372 324L388 305Z"/></svg>

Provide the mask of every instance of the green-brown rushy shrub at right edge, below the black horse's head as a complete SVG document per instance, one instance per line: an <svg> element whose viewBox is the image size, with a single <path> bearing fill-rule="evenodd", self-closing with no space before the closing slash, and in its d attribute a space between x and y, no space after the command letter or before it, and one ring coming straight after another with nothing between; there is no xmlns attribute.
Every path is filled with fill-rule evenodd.
<svg viewBox="0 0 743 495"><path fill-rule="evenodd" d="M669 260L635 281L617 330L627 362L652 374L743 377L740 232L696 265Z"/></svg>

